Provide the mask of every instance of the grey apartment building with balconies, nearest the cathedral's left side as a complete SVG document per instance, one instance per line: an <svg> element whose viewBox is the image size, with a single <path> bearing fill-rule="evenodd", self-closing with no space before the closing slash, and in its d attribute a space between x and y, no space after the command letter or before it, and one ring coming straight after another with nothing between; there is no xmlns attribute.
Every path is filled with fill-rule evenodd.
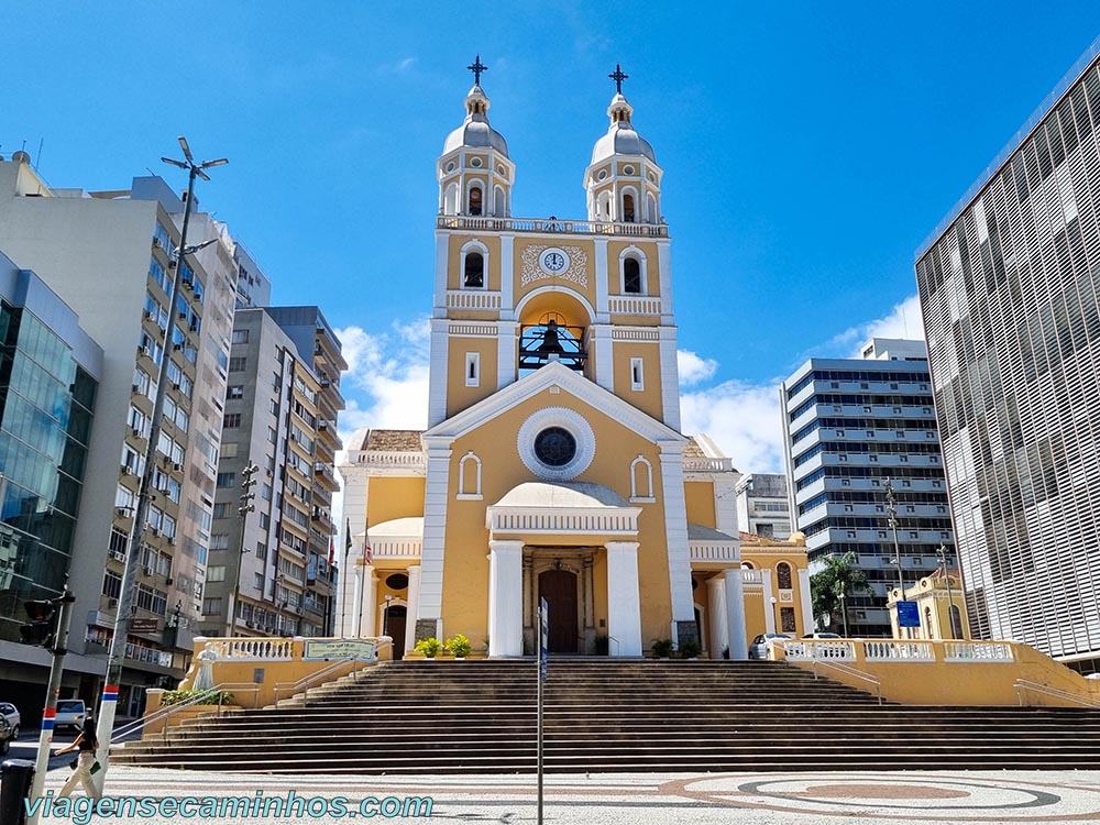
<svg viewBox="0 0 1100 825"><path fill-rule="evenodd" d="M333 461L344 369L340 341L317 307L237 310L205 635L333 632ZM250 463L253 510L242 514Z"/></svg>

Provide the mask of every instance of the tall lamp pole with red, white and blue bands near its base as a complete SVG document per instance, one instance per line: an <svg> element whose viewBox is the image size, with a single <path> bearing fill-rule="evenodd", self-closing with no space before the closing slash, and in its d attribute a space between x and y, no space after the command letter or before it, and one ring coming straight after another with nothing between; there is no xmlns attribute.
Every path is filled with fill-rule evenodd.
<svg viewBox="0 0 1100 825"><path fill-rule="evenodd" d="M99 739L99 750L96 759L102 766L92 781L97 782L97 790L102 793L107 781L107 772L110 767L111 734L114 730L114 716L119 704L119 685L122 682L122 666L125 661L127 639L130 636L130 620L135 607L138 596L138 570L141 566L140 550L142 536L145 532L145 518L148 515L150 495L153 486L153 471L156 465L156 446L161 440L161 418L164 415L164 400L168 389L168 364L172 360L172 339L176 331L176 302L184 283L184 266L186 256L195 249L187 248L187 228L191 218L191 204L195 202L195 178L201 177L209 180L206 169L211 166L221 166L229 163L224 157L217 161L206 161L195 163L191 150L187 141L180 136L179 146L184 151L184 161L173 161L167 157L161 160L165 163L178 166L188 170L187 177L187 199L184 201L184 223L179 230L179 246L176 250L174 272L172 277L172 295L168 297L168 322L165 324L164 338L162 342L161 364L156 374L156 396L153 399L153 418L150 424L148 444L145 448L145 468L141 474L138 485L138 503L134 508L134 522L130 529L130 538L127 542L127 558L122 572L122 588L119 593L118 614L114 617L114 636L111 638L111 647L107 659L107 676L103 682L103 694L99 702L99 719L96 735Z"/></svg>

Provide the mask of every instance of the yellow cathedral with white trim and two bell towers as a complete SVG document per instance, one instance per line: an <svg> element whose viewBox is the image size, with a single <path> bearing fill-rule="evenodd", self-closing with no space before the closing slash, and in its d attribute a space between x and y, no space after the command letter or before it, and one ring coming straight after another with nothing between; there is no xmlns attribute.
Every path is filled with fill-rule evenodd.
<svg viewBox="0 0 1100 825"><path fill-rule="evenodd" d="M663 172L622 94L584 170L585 220L512 213L516 164L481 61L437 163L428 429L364 429L340 470L343 636L463 634L490 657L637 657L654 639L746 656L735 485L680 432ZM759 630L812 629L805 549ZM782 580L782 576L778 578ZM799 592L795 593L794 591ZM756 623L750 623L750 629Z"/></svg>

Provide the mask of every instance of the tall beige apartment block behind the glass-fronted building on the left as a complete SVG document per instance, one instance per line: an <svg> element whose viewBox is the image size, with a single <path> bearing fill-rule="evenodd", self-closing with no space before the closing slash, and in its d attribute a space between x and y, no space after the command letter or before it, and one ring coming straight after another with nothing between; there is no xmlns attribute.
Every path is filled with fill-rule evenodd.
<svg viewBox="0 0 1100 825"><path fill-rule="evenodd" d="M223 228L193 212L188 242L218 243L188 257L172 306L169 262L183 211L158 178L138 178L125 191L87 193L50 187L23 158L0 163L0 249L78 308L81 326L105 350L89 483L74 534L69 647L78 652L82 646L87 654L106 654L113 632L158 367L169 359L122 714L140 712L145 688L183 676L202 608L237 265ZM169 314L176 333L165 351Z"/></svg>

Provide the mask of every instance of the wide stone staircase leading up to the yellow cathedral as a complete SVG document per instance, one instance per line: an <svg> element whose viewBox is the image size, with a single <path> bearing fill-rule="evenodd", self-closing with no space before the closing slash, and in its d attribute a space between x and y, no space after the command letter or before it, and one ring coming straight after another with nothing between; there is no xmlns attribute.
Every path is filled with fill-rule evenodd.
<svg viewBox="0 0 1100 825"><path fill-rule="evenodd" d="M1100 712L901 706L781 662L551 660L548 771L1100 769ZM392 662L191 719L116 763L271 773L531 772L534 660Z"/></svg>

